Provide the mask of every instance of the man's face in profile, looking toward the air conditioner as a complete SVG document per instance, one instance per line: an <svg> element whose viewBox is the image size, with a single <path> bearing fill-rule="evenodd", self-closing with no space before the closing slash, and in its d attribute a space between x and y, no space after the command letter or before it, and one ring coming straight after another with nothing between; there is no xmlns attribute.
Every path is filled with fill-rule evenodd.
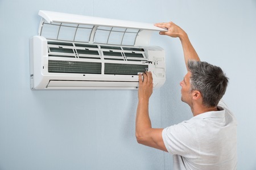
<svg viewBox="0 0 256 170"><path fill-rule="evenodd" d="M191 72L184 76L184 79L180 82L181 86L181 101L191 104L192 101L192 93L191 93L191 84L190 84Z"/></svg>

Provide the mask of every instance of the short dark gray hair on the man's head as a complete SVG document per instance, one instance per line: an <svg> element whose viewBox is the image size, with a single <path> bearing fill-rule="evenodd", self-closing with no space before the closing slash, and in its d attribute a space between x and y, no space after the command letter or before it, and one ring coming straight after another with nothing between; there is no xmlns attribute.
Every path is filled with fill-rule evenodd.
<svg viewBox="0 0 256 170"><path fill-rule="evenodd" d="M188 61L188 69L192 73L191 91L198 90L203 97L205 107L216 107L228 86L228 78L220 67L207 62Z"/></svg>

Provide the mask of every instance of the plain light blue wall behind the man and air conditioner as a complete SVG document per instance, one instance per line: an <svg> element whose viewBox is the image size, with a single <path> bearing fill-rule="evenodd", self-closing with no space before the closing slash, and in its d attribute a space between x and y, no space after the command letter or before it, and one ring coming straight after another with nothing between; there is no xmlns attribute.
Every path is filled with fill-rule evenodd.
<svg viewBox="0 0 256 170"><path fill-rule="evenodd" d="M187 31L203 61L230 78L224 97L238 120L238 169L256 169L256 1L0 0L0 169L171 169L168 154L136 142L137 91L31 91L28 39L39 10L168 22ZM155 128L192 117L180 101L185 74L178 39L166 49L167 81L150 100Z"/></svg>

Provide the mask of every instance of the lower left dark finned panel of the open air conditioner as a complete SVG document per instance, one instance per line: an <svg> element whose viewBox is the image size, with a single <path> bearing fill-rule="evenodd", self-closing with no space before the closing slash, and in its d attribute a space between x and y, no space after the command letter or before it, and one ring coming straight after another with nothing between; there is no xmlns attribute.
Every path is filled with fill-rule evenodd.
<svg viewBox="0 0 256 170"><path fill-rule="evenodd" d="M49 73L101 74L101 63L49 60L48 71Z"/></svg>

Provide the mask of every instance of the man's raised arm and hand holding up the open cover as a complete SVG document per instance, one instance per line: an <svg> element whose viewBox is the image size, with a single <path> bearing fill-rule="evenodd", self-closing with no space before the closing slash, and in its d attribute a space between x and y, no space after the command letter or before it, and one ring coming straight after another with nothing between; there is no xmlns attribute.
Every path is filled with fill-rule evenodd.
<svg viewBox="0 0 256 170"><path fill-rule="evenodd" d="M168 29L167 32L160 32L160 35L167 35L170 37L179 37L182 48L183 48L184 59L185 59L187 70L188 70L187 64L189 59L200 61L200 58L198 57L196 50L193 48L191 42L188 39L187 33L185 33L185 31L181 29L178 25L176 25L173 22L169 22L169 23L157 23L155 24L155 26Z"/></svg>

